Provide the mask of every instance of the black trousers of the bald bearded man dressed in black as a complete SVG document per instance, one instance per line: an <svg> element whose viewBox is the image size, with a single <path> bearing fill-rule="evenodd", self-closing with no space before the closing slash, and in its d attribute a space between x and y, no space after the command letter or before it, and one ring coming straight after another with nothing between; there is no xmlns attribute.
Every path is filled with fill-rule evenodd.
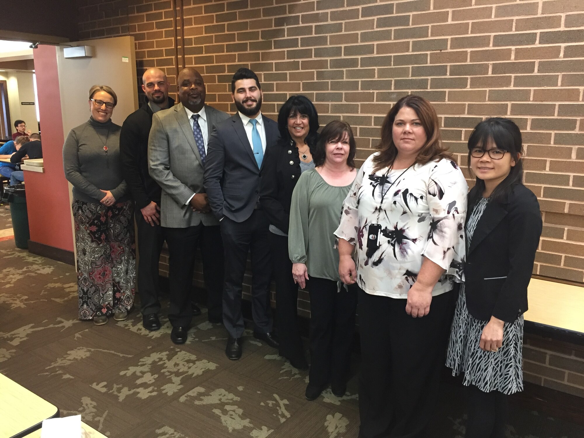
<svg viewBox="0 0 584 438"><path fill-rule="evenodd" d="M164 244L164 228L154 227L144 220L139 208L135 211L138 231L138 294L142 315L156 314L160 311L160 287L158 281L158 262Z"/></svg>

